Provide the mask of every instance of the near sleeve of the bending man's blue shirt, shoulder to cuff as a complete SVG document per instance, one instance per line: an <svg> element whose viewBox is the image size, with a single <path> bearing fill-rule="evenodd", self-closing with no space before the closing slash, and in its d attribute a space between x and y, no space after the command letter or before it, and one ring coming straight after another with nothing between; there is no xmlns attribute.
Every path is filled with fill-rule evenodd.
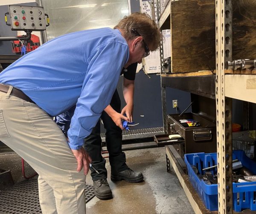
<svg viewBox="0 0 256 214"><path fill-rule="evenodd" d="M128 57L128 46L121 42L98 46L91 54L81 95L68 130L71 149L81 148L84 138L96 126L102 111L111 101L120 71Z"/></svg>

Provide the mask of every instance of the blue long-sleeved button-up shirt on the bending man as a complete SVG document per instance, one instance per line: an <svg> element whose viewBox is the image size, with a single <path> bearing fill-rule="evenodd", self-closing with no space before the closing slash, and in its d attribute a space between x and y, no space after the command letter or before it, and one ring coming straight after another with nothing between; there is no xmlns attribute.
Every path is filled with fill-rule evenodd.
<svg viewBox="0 0 256 214"><path fill-rule="evenodd" d="M69 146L79 149L109 105L129 49L118 29L78 31L57 37L0 73L0 83L22 90L55 116L76 105Z"/></svg>

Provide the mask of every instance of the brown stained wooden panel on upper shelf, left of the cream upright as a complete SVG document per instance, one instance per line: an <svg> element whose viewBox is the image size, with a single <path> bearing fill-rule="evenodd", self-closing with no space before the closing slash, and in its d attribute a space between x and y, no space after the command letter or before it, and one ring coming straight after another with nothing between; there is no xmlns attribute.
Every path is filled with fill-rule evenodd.
<svg viewBox="0 0 256 214"><path fill-rule="evenodd" d="M215 69L215 1L171 5L172 73Z"/></svg>

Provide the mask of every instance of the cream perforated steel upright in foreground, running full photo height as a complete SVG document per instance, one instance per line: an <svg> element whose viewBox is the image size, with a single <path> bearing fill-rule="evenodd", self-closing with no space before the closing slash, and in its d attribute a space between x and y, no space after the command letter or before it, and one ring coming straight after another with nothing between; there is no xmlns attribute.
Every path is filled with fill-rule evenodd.
<svg viewBox="0 0 256 214"><path fill-rule="evenodd" d="M232 99L225 97L224 65L232 60L232 1L215 1L218 213L233 213Z"/></svg>

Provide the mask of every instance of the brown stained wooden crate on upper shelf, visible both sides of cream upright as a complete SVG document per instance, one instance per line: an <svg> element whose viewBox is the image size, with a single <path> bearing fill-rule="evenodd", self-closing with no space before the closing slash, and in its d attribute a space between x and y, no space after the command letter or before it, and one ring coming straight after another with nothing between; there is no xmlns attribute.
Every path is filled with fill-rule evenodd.
<svg viewBox="0 0 256 214"><path fill-rule="evenodd" d="M254 59L256 0L232 3L233 60ZM172 73L215 70L215 0L172 2L171 43Z"/></svg>

